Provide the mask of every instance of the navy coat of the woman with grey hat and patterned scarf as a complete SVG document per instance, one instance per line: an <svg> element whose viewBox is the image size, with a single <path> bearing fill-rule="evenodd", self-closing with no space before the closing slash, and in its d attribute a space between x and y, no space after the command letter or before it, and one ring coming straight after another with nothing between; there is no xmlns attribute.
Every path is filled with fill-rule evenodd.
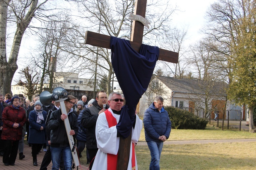
<svg viewBox="0 0 256 170"><path fill-rule="evenodd" d="M42 112L44 120L42 123L37 123L37 113L35 111L31 111L29 113L29 136L28 143L46 143L45 140L45 120L46 120L46 112ZM40 131L41 126L43 126L44 130Z"/></svg>

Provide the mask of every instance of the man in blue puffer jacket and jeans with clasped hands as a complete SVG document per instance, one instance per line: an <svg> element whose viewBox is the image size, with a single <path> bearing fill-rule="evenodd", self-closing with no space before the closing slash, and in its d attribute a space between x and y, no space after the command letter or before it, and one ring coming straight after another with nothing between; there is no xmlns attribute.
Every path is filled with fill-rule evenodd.
<svg viewBox="0 0 256 170"><path fill-rule="evenodd" d="M150 170L160 170L159 161L163 142L171 133L171 121L163 108L163 98L156 96L154 102L146 109L143 118L145 138L150 149Z"/></svg>

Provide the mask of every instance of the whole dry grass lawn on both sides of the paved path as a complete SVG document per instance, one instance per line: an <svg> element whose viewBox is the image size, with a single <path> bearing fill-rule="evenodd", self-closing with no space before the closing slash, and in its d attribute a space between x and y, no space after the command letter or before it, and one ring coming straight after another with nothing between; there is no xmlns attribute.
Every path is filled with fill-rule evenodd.
<svg viewBox="0 0 256 170"><path fill-rule="evenodd" d="M171 130L168 140L199 139L247 139L256 138L256 133L229 129L222 131L214 126L205 130ZM144 129L140 141L145 141ZM139 170L148 170L150 151L147 146L136 146ZM160 169L256 169L256 142L208 143L189 145L164 145ZM83 151L81 163L86 163Z"/></svg>

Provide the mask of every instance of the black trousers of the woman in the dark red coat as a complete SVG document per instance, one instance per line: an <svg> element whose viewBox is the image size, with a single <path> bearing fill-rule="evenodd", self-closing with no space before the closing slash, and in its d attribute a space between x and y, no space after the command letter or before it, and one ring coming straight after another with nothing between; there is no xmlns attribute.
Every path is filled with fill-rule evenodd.
<svg viewBox="0 0 256 170"><path fill-rule="evenodd" d="M14 164L19 148L19 140L4 140L3 163Z"/></svg>

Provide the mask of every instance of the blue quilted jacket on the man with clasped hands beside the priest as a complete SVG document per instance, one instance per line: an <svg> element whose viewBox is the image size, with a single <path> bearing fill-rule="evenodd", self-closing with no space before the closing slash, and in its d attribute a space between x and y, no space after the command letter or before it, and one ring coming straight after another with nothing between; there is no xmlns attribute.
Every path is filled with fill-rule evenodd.
<svg viewBox="0 0 256 170"><path fill-rule="evenodd" d="M168 112L162 107L159 112L154 102L146 109L143 118L146 141L159 141L159 136L168 139L171 133L171 121Z"/></svg>

